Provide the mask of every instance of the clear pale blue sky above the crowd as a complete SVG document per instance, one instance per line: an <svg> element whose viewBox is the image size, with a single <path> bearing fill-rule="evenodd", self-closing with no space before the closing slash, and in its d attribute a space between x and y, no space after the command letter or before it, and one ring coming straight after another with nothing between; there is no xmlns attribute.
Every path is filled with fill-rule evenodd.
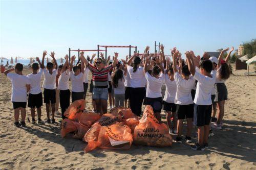
<svg viewBox="0 0 256 170"><path fill-rule="evenodd" d="M0 1L1 48L6 58L60 58L72 49L146 45L155 40L184 53L238 45L256 38L256 1ZM109 49L121 57L128 49ZM49 53L48 53L49 54ZM73 53L77 55L77 53ZM91 55L92 53L90 53ZM183 55L184 56L184 55Z"/></svg>

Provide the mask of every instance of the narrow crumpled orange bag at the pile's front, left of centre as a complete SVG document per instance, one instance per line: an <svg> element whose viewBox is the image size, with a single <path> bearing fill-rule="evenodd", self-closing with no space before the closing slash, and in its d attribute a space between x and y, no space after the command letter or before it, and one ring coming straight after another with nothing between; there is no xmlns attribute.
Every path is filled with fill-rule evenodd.
<svg viewBox="0 0 256 170"><path fill-rule="evenodd" d="M83 140L88 142L87 147L84 149L85 152L92 151L99 146L98 136L101 127L99 123L95 123L84 135Z"/></svg>

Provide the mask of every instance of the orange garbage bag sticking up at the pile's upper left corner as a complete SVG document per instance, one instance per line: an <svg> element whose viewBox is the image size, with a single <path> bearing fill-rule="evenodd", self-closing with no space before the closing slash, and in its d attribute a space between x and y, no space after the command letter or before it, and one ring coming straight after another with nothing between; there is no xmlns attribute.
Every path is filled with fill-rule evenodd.
<svg viewBox="0 0 256 170"><path fill-rule="evenodd" d="M84 100L77 100L73 102L68 109L64 112L64 115L71 120L78 122L79 116L84 110Z"/></svg>

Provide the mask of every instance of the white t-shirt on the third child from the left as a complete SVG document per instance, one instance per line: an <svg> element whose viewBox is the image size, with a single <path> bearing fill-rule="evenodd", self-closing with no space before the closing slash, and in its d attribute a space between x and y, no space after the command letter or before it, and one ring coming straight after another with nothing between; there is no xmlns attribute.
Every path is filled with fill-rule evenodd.
<svg viewBox="0 0 256 170"><path fill-rule="evenodd" d="M44 73L45 79L44 82L42 83L42 88L46 89L56 89L56 75L57 75L57 70L54 69L52 71L52 74L49 73L49 71L44 68L42 69L42 72Z"/></svg>

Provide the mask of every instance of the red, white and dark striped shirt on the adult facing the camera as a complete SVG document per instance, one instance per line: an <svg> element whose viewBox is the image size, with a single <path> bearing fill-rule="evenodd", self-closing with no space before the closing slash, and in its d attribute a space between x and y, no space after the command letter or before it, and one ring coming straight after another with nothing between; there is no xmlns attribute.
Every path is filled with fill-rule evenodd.
<svg viewBox="0 0 256 170"><path fill-rule="evenodd" d="M108 75L109 75L110 69L112 69L112 64L109 66L105 66L101 70L98 70L97 67L94 67L90 63L88 67L92 72L93 87L108 88L109 87Z"/></svg>

